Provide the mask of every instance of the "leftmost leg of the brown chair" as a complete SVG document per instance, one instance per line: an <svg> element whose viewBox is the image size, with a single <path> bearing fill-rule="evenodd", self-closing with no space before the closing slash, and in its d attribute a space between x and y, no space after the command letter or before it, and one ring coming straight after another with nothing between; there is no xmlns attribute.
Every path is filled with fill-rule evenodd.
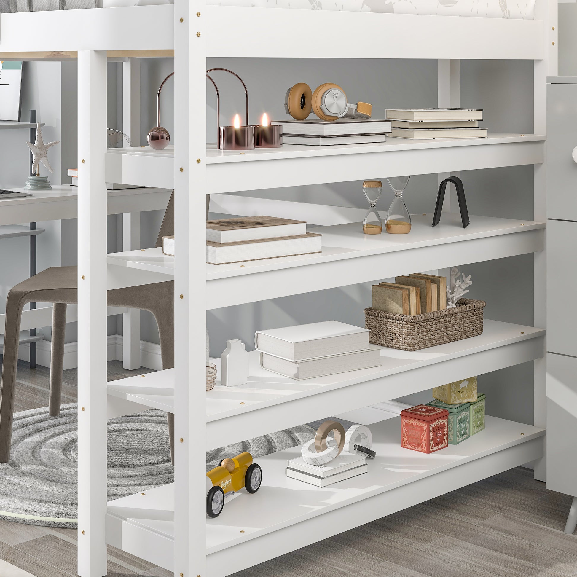
<svg viewBox="0 0 577 577"><path fill-rule="evenodd" d="M10 460L20 319L25 304L18 294L16 298L10 298L11 293L12 291L6 299L6 328L2 359L2 389L0 391L0 462L2 463L8 463Z"/></svg>

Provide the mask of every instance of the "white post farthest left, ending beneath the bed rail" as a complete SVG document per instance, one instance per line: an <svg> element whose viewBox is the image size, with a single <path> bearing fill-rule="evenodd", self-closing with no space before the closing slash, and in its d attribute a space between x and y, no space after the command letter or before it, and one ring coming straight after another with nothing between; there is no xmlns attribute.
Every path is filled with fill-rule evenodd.
<svg viewBox="0 0 577 577"><path fill-rule="evenodd" d="M78 51L78 575L106 575L106 52Z"/></svg>

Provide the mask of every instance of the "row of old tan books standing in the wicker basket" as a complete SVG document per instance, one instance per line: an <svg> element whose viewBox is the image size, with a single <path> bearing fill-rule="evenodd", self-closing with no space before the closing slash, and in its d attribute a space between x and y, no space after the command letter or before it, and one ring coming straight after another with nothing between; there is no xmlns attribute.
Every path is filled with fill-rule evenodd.
<svg viewBox="0 0 577 577"><path fill-rule="evenodd" d="M373 309L396 314L432 313L447 308L447 278L415 273L394 283L373 284Z"/></svg>

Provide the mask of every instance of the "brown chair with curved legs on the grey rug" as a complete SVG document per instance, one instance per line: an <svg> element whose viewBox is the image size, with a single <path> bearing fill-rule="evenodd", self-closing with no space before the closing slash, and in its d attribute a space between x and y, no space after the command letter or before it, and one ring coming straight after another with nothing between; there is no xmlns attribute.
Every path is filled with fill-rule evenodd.
<svg viewBox="0 0 577 577"><path fill-rule="evenodd" d="M208 197L207 197L208 204ZM156 246L162 237L174 234L174 191L168 201ZM0 392L0 462L10 459L14 387L18 366L18 338L20 319L28 302L53 302L52 351L50 362L49 414L58 415L62 397L62 367L64 359L64 331L66 305L78 302L77 267L51 267L24 280L10 290L6 299L6 328ZM108 291L108 306L150 311L158 324L162 368L174 366L174 280L117 288ZM81 327L80 327L81 328ZM168 414L170 455L174 464L174 414Z"/></svg>

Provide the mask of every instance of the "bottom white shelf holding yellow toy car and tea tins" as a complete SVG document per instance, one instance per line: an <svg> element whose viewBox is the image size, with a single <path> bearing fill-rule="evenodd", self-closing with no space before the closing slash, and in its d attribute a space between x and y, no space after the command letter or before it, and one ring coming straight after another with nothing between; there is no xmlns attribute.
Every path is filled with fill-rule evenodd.
<svg viewBox="0 0 577 577"><path fill-rule="evenodd" d="M223 577L540 458L545 430L486 417L485 430L426 455L400 447L400 417L370 426L368 473L317 488L286 477L300 447L256 459L263 484L207 519L207 571ZM106 541L174 570L174 485L108 503ZM241 533L242 531L242 533Z"/></svg>

